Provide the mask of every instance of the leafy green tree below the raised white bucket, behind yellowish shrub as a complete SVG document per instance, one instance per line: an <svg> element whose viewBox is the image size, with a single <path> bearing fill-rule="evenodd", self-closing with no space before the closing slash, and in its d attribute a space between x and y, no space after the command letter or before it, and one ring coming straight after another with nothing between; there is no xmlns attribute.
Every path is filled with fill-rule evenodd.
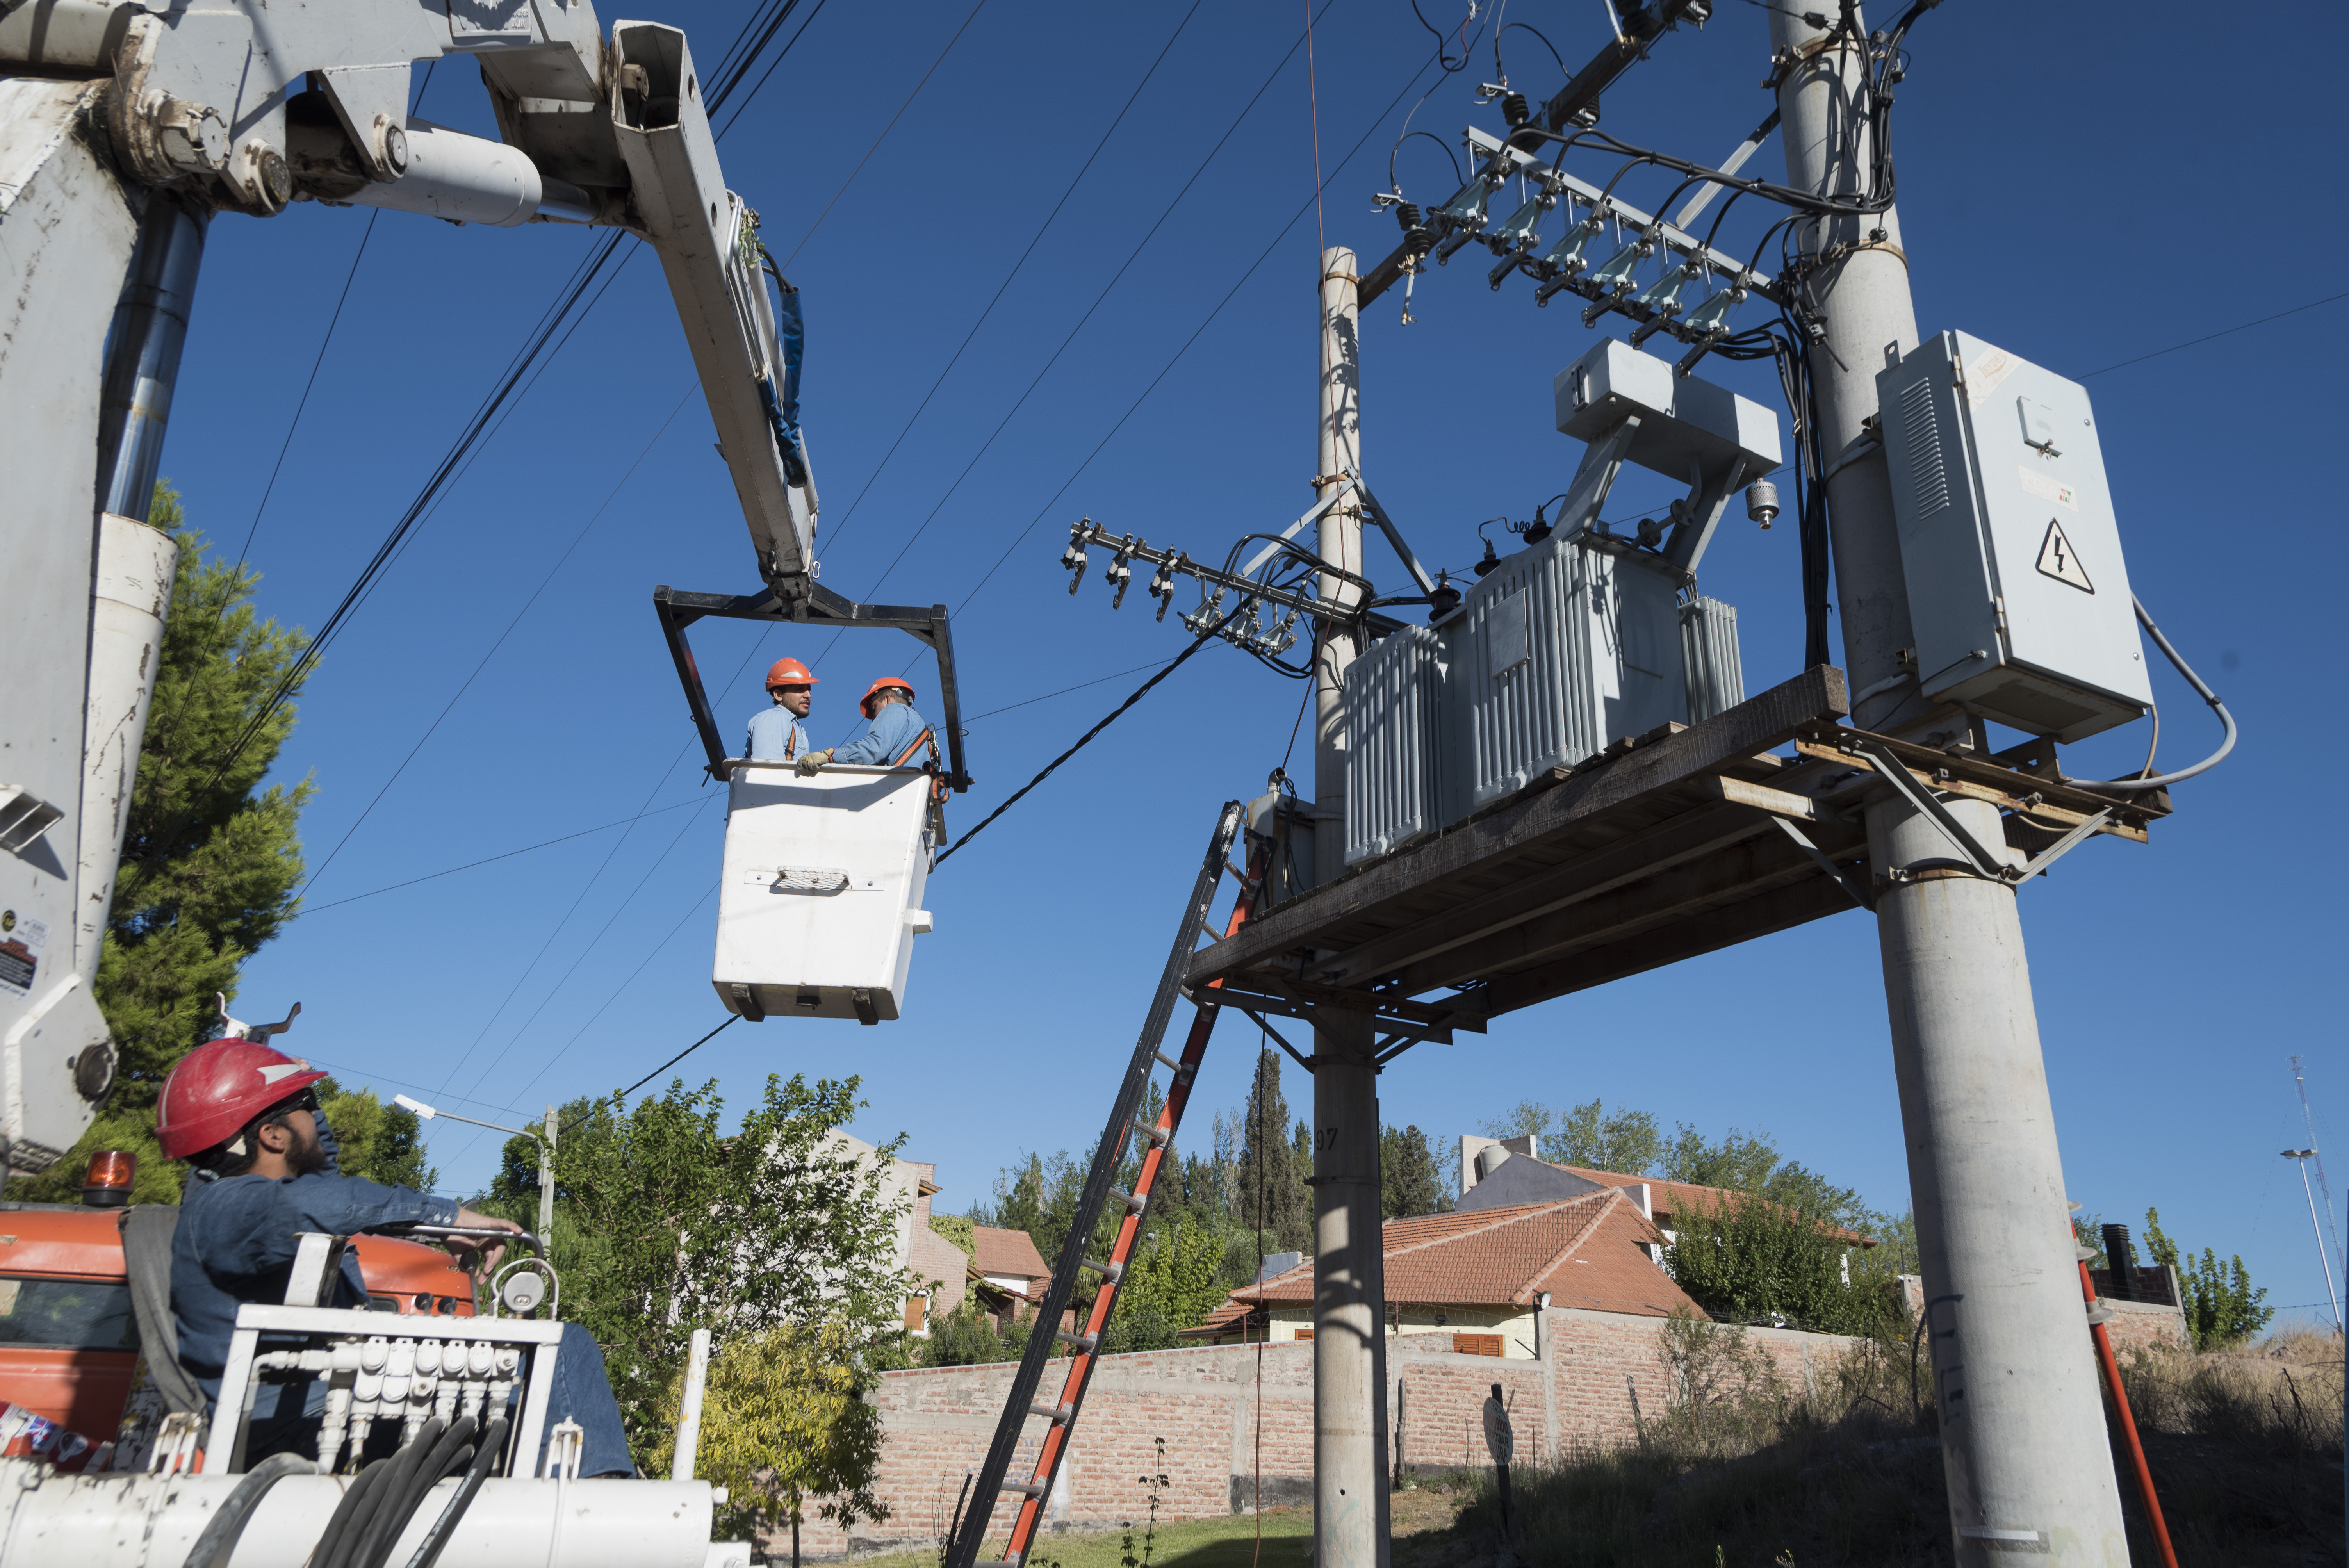
<svg viewBox="0 0 2349 1568"><path fill-rule="evenodd" d="M561 1136L564 1317L604 1347L639 1458L662 1439L693 1329L726 1343L813 1324L857 1345L902 1336L911 1282L890 1263L904 1202L888 1169L904 1138L876 1157L836 1138L862 1106L857 1084L768 1077L761 1103L726 1134L716 1082L674 1080L634 1110L615 1094L601 1127Z"/></svg>

